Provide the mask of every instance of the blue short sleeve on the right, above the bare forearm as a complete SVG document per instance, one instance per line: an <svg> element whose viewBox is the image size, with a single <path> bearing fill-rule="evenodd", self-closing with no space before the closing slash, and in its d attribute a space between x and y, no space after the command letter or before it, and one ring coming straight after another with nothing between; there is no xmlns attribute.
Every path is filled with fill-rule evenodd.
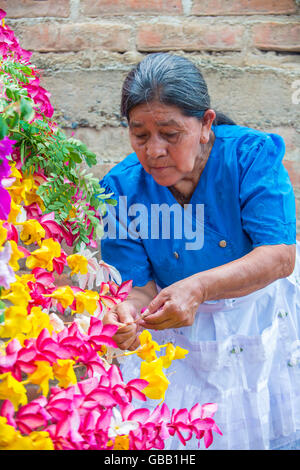
<svg viewBox="0 0 300 470"><path fill-rule="evenodd" d="M248 136L238 148L242 226L253 247L296 243L295 196L284 153L276 134Z"/></svg>

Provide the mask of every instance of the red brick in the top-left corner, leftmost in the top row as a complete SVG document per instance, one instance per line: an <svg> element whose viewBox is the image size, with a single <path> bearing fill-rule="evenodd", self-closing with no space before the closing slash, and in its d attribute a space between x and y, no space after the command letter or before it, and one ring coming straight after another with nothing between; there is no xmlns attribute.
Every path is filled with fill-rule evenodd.
<svg viewBox="0 0 300 470"><path fill-rule="evenodd" d="M70 0L0 0L0 8L6 11L7 18L67 18L70 15Z"/></svg>

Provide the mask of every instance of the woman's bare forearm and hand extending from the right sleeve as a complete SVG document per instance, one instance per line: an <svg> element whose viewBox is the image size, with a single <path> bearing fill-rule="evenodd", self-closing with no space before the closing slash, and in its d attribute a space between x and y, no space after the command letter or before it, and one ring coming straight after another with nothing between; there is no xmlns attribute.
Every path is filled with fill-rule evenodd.
<svg viewBox="0 0 300 470"><path fill-rule="evenodd" d="M194 274L162 289L139 324L157 330L190 326L202 302L241 297L287 277L295 256L295 245L260 246L235 261Z"/></svg>

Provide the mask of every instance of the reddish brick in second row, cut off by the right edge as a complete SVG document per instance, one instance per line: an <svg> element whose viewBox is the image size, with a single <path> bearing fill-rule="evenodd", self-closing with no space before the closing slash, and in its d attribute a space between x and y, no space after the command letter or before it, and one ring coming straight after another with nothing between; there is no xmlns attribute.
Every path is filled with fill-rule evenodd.
<svg viewBox="0 0 300 470"><path fill-rule="evenodd" d="M252 40L261 50L299 52L300 23L260 23L252 28Z"/></svg>

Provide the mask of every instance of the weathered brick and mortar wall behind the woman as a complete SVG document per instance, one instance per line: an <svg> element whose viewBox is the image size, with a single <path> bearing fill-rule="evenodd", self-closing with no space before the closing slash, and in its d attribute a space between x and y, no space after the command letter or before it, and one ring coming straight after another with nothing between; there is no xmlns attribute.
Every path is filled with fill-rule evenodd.
<svg viewBox="0 0 300 470"><path fill-rule="evenodd" d="M299 201L299 0L0 0L22 47L34 52L55 116L98 156L103 175L131 151L119 114L122 81L145 54L198 64L212 105L282 135Z"/></svg>

